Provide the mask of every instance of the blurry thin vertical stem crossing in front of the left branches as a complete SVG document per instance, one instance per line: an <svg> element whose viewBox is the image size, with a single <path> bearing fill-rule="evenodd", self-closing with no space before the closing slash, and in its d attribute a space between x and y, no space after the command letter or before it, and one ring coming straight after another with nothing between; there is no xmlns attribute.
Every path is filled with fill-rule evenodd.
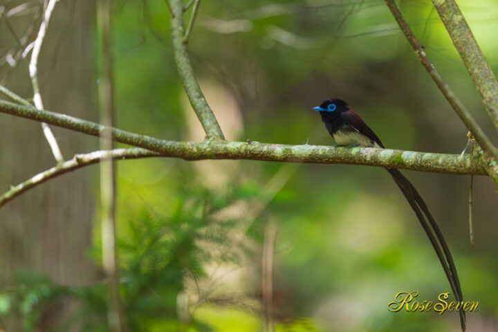
<svg viewBox="0 0 498 332"><path fill-rule="evenodd" d="M102 43L102 64L98 86L100 123L106 129L100 134L100 149L114 147L111 127L114 115L113 48L111 26L111 0L98 1L98 22ZM120 299L118 257L116 256L116 167L112 159L100 163L100 222L102 228L102 266L109 285L107 320L110 331L124 332L124 317Z"/></svg>

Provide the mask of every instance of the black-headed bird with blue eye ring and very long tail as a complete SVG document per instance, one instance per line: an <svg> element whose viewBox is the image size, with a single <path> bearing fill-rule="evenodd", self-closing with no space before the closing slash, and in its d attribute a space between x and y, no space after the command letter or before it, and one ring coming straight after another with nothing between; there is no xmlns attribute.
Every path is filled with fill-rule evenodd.
<svg viewBox="0 0 498 332"><path fill-rule="evenodd" d="M376 133L370 129L356 112L349 109L348 103L344 102L344 100L336 98L327 99L320 106L313 107L313 110L320 113L327 131L329 131L338 146L385 148ZM448 248L443 233L430 213L429 208L427 208L427 204L421 195L418 194L414 185L398 169L386 169L392 178L394 178L401 192L403 192L412 210L414 210L418 221L420 221L425 234L427 234L441 262L441 266L443 266L455 299L459 303L462 303L461 285L450 248ZM463 306L459 314L461 329L465 332L465 312L463 311Z"/></svg>

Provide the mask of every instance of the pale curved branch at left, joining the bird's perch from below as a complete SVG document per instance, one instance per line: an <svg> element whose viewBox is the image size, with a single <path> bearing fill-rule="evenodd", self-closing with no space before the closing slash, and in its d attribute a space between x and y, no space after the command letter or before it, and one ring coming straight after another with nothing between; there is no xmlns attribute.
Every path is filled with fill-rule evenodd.
<svg viewBox="0 0 498 332"><path fill-rule="evenodd" d="M66 174L68 172L73 172L75 169L99 163L101 160L109 160L111 158L113 160L125 160L156 156L160 156L160 154L146 149L141 149L140 147L133 147L130 149L114 149L112 151L93 151L89 154L77 154L71 160L66 160L62 164L36 174L23 183L19 183L19 185L11 186L10 190L0 196L0 207L9 201L12 201L12 199L15 199L20 194L27 192L37 185L41 185L51 178L61 176L62 174Z"/></svg>

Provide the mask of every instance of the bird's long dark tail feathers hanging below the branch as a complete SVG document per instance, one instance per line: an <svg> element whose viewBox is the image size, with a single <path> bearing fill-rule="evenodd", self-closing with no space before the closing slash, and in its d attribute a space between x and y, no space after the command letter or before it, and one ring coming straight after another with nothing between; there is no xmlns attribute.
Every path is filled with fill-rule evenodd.
<svg viewBox="0 0 498 332"><path fill-rule="evenodd" d="M462 302L463 296L461 293L460 281L450 248L448 248L448 245L443 238L443 234L441 233L439 226L436 224L436 221L434 221L432 214L430 214L427 205L418 194L412 183L410 183L408 179L405 178L400 171L398 171L398 169L387 169L387 172L389 172L389 174L391 174L394 178L394 181L396 181L396 184L405 195L409 205L414 210L418 221L421 222L422 228L425 230L425 234L427 234L434 251L436 251L436 255L441 262L441 266L443 266L455 298L458 302ZM463 311L463 307L460 309L460 323L462 331L465 332L465 312Z"/></svg>

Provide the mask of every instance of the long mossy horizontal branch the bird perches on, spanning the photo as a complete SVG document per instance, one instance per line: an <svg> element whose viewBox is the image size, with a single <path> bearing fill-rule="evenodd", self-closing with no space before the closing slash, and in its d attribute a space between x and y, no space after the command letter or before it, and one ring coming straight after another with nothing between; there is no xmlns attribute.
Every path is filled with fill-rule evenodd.
<svg viewBox="0 0 498 332"><path fill-rule="evenodd" d="M100 133L104 130L104 126L95 122L3 100L0 100L0 113L47 122L48 124L97 137L100 137ZM331 146L264 144L254 141L176 142L160 140L117 128L112 129L112 137L116 142L142 147L156 151L164 156L183 158L185 160L268 160L286 163L369 165L444 174L487 174L480 160L469 154L459 156L458 154L433 154L365 147L349 149Z"/></svg>

